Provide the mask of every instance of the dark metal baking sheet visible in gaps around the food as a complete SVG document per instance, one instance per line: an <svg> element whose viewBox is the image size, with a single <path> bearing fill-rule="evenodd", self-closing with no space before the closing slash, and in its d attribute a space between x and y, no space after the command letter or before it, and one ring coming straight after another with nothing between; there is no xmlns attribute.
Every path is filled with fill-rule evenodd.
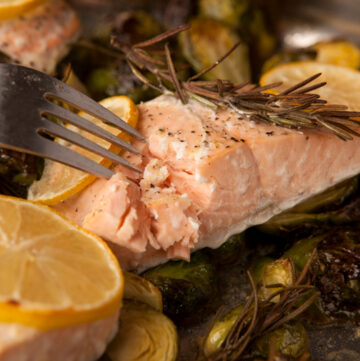
<svg viewBox="0 0 360 361"><path fill-rule="evenodd" d="M183 0L184 2L185 0ZM79 11L84 33L94 24L106 19L116 11L142 9L151 12L158 20L164 19L166 0L72 0ZM178 1L179 2L179 1ZM181 4L181 1L179 2ZM346 38L360 45L360 1L358 0L270 0L278 13L277 31L283 48L309 46L316 41L332 38ZM267 5L269 6L269 4ZM262 246L259 246L262 247ZM264 252L258 249L256 252ZM245 276L245 262L223 267L220 277L220 304L224 312L241 303L249 291ZM212 321L213 316L204 319L196 326L179 328L179 361L196 359L198 344ZM311 339L311 354L319 361L359 361L360 327L354 323L341 326L311 326L308 329Z"/></svg>

